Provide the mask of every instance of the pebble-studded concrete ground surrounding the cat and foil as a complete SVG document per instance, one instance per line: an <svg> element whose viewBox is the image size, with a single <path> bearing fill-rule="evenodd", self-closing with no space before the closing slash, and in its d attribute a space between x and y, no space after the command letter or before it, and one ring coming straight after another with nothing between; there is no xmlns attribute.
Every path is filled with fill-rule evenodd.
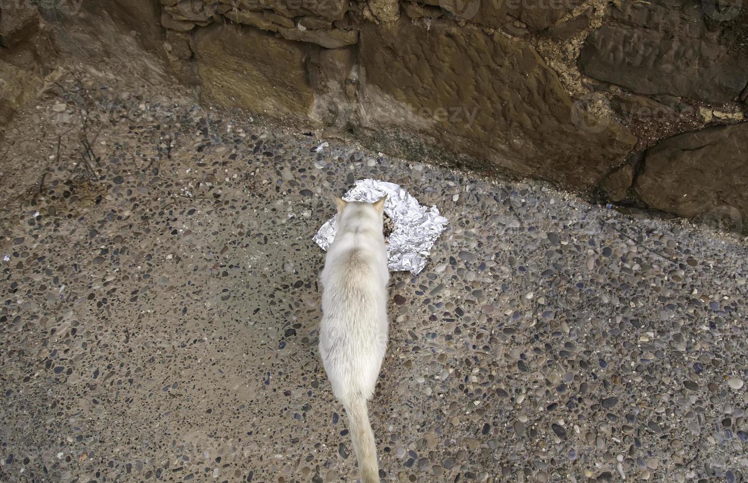
<svg viewBox="0 0 748 483"><path fill-rule="evenodd" d="M364 177L450 221L423 273L392 274L384 481L746 478L744 244L313 153L314 133L109 69L60 79L0 140L1 481L355 481L312 235Z"/></svg>

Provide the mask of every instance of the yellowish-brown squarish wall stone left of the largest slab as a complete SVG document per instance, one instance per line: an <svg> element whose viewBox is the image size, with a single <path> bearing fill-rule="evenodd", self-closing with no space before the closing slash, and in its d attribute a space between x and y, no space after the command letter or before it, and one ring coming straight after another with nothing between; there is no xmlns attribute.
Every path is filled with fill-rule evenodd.
<svg viewBox="0 0 748 483"><path fill-rule="evenodd" d="M305 67L311 49L319 47L241 25L198 28L193 50L202 99L272 116L303 116L313 100Z"/></svg>

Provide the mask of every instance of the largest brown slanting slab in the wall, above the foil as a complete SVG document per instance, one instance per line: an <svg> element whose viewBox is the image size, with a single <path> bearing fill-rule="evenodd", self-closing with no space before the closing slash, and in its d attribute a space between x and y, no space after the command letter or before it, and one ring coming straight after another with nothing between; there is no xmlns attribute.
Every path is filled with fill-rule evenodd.
<svg viewBox="0 0 748 483"><path fill-rule="evenodd" d="M367 24L360 58L365 122L418 129L516 173L589 188L635 142L613 120L577 127L556 73L529 43L500 34L440 20L428 30Z"/></svg>

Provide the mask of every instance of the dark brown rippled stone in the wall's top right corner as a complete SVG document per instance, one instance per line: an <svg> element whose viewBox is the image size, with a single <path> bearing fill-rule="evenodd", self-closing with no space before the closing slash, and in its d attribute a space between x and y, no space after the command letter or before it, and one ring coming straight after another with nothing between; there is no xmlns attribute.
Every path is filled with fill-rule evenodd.
<svg viewBox="0 0 748 483"><path fill-rule="evenodd" d="M748 35L748 10L716 31L707 21L696 3L613 7L609 22L587 37L580 70L637 93L727 102L748 83L747 47L729 42Z"/></svg>

